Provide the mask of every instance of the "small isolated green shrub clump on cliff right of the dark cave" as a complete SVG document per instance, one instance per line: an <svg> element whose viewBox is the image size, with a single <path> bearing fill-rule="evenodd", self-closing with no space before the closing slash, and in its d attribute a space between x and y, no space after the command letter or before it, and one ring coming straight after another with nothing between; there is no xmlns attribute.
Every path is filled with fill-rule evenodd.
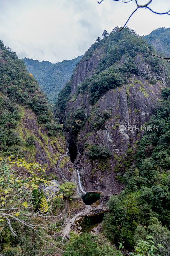
<svg viewBox="0 0 170 256"><path fill-rule="evenodd" d="M93 145L92 148L86 153L90 159L105 159L112 155L112 152L103 146Z"/></svg>

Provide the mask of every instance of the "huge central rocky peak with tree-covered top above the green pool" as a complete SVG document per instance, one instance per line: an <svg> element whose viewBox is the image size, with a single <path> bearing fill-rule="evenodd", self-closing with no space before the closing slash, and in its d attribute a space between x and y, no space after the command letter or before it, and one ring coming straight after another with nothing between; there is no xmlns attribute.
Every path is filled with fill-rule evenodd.
<svg viewBox="0 0 170 256"><path fill-rule="evenodd" d="M166 69L157 67L163 63L160 59L136 54L147 51L143 38L129 28L115 31L85 53L55 108L75 151L72 161L83 168L86 191L109 195L124 187L122 176L134 163L144 123L166 87L159 70L167 75ZM149 49L157 53L152 46ZM146 127L151 134L154 129Z"/></svg>

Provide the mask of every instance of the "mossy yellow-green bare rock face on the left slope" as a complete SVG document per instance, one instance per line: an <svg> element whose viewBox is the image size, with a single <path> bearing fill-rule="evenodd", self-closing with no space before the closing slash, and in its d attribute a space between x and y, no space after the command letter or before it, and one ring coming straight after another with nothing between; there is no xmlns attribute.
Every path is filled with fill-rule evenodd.
<svg viewBox="0 0 170 256"><path fill-rule="evenodd" d="M62 181L63 176L59 172L58 162L60 157L67 151L67 143L64 136L49 137L43 124L37 123L35 113L29 108L23 108L22 122L19 124L18 133L23 141L26 141L29 136L34 138L34 147L25 148L26 156L29 162L39 162L46 168L47 174L56 174L59 180ZM69 168L73 168L70 158L63 158L63 167L60 166L64 175L68 180L71 180L72 172ZM71 170L71 169L70 169ZM63 182L63 181L62 181Z"/></svg>

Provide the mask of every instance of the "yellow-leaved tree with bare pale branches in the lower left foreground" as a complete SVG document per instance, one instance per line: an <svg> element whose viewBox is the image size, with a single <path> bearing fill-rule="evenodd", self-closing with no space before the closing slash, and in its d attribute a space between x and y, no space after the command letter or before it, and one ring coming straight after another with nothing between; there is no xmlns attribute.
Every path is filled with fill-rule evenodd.
<svg viewBox="0 0 170 256"><path fill-rule="evenodd" d="M38 184L49 183L43 172L38 163L0 158L0 250L5 255L33 255L32 250L41 251L43 244L47 252L58 250L54 237L62 229L58 216L62 212L57 215L54 202L63 195L53 195L47 202L44 193L38 192Z"/></svg>

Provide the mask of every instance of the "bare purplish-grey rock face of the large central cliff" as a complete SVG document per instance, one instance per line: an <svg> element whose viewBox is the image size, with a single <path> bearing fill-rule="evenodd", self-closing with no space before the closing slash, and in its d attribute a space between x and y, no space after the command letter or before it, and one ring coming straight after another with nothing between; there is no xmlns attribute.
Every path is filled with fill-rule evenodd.
<svg viewBox="0 0 170 256"><path fill-rule="evenodd" d="M121 61L123 63L123 58ZM89 76L93 74L95 63L95 56L92 56L87 63L85 60L80 62L73 79L72 95L77 88L76 83L83 81L84 74L88 73ZM66 132L66 139L74 140L76 143L78 154L74 163L83 167L81 177L86 191L98 190L108 195L122 191L124 185L120 182L121 176L125 168L134 163L132 155L135 153L137 140L143 134L140 131L141 126L144 128L144 123L149 120L155 105L161 99L161 90L166 86L165 81L158 73L152 72L152 68L141 56L135 58L135 64L139 69L138 75L131 75L128 84L103 94L95 105L100 112L112 108L111 117L106 120L104 129L98 131L92 129L90 113L93 106L89 104L88 92L79 94L76 100L70 100L66 104L66 121L68 112L71 110L71 113L74 113L78 107L85 109L88 118L84 129L76 137L71 133L70 128ZM149 79L154 80L155 84L151 84ZM105 146L113 155L106 161L91 161L86 154L87 149L84 149L85 142Z"/></svg>

